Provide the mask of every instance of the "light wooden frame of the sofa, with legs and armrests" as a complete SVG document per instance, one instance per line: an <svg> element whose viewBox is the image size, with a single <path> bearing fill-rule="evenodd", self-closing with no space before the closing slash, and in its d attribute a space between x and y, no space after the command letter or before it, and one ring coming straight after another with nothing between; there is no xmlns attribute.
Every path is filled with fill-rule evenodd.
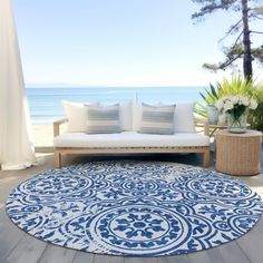
<svg viewBox="0 0 263 263"><path fill-rule="evenodd" d="M60 126L68 121L67 118L53 123L53 137L60 135ZM196 127L203 127L204 134L210 135L210 126L206 120L195 118ZM167 153L199 153L203 154L203 166L210 166L210 146L187 147L53 147L53 166L61 168L64 154L167 154Z"/></svg>

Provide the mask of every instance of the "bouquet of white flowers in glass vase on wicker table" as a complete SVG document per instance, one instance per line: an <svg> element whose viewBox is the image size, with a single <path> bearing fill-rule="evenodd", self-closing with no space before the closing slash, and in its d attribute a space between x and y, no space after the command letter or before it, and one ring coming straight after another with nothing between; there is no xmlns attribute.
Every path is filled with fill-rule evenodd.
<svg viewBox="0 0 263 263"><path fill-rule="evenodd" d="M242 116L246 117L247 109L256 109L257 103L253 98L235 95L222 97L215 103L215 107L230 116L231 124L228 126L242 127ZM246 123L244 125L246 126Z"/></svg>

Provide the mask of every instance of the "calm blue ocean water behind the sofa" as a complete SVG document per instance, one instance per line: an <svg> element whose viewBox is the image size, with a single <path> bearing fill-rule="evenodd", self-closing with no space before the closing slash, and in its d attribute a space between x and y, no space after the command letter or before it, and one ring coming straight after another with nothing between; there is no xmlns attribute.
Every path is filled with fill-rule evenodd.
<svg viewBox="0 0 263 263"><path fill-rule="evenodd" d="M50 124L65 116L61 101L76 103L101 101L105 104L121 103L133 99L147 104L176 104L201 101L199 91L204 87L155 87L155 88L27 88L31 121Z"/></svg>

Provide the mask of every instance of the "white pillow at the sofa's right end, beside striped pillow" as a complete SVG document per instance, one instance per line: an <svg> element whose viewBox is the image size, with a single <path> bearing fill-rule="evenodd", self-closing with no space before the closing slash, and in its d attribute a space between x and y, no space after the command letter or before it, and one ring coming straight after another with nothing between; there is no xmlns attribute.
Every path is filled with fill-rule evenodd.
<svg viewBox="0 0 263 263"><path fill-rule="evenodd" d="M175 133L195 133L195 103L176 104L174 115Z"/></svg>

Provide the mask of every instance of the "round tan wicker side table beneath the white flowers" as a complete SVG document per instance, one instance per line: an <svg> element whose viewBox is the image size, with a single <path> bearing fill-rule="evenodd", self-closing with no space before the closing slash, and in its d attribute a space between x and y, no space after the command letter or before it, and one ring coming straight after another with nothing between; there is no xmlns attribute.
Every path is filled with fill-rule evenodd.
<svg viewBox="0 0 263 263"><path fill-rule="evenodd" d="M245 134L232 134L225 129L215 136L215 168L230 175L256 175L261 166L262 134L247 130Z"/></svg>

